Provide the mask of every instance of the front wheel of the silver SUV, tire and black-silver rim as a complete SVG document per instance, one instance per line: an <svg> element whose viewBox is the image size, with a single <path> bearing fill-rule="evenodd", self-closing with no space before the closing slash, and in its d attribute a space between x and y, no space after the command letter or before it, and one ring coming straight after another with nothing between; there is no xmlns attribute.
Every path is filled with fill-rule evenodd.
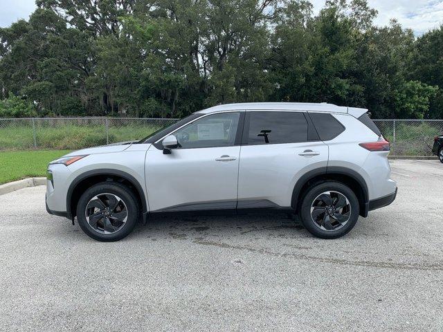
<svg viewBox="0 0 443 332"><path fill-rule="evenodd" d="M105 242L126 237L134 229L140 213L134 192L117 182L93 185L80 196L77 205L77 220L83 232Z"/></svg>

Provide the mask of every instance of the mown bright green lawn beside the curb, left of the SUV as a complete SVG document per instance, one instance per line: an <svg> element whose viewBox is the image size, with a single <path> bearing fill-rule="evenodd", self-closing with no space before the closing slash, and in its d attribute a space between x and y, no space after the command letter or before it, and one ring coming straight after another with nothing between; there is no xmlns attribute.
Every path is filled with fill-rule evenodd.
<svg viewBox="0 0 443 332"><path fill-rule="evenodd" d="M46 166L68 150L0 152L0 184L31 176L45 176Z"/></svg>

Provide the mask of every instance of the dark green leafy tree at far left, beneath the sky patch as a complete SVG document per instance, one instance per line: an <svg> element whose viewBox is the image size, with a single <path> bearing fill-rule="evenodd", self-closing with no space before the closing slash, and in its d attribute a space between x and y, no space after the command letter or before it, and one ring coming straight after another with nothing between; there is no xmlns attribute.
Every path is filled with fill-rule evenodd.
<svg viewBox="0 0 443 332"><path fill-rule="evenodd" d="M28 22L0 29L0 40L4 95L35 101L42 115L86 113L84 82L91 71L86 35L66 28L55 12L37 9Z"/></svg>

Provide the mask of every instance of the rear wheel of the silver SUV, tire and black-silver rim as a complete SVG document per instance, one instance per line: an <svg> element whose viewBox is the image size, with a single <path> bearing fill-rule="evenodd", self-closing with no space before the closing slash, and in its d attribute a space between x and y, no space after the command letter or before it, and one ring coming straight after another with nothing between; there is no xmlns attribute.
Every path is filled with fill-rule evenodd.
<svg viewBox="0 0 443 332"><path fill-rule="evenodd" d="M359 219L359 200L343 183L318 183L307 190L299 214L302 224L314 237L336 239L354 228Z"/></svg>

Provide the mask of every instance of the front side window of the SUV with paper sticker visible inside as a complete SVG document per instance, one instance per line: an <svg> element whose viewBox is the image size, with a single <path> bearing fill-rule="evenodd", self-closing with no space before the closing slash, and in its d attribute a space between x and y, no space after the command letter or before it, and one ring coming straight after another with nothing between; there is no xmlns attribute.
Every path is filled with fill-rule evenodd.
<svg viewBox="0 0 443 332"><path fill-rule="evenodd" d="M235 143L235 135L240 118L239 112L217 113L199 120L173 133L179 148L230 147Z"/></svg>

